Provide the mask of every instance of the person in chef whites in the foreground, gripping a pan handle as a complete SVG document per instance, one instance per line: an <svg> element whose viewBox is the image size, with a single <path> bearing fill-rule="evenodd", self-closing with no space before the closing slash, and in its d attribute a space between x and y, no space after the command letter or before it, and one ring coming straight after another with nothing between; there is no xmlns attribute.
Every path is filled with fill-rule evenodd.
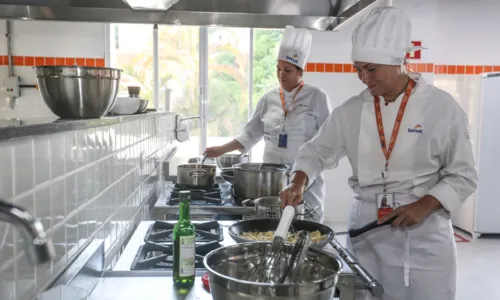
<svg viewBox="0 0 500 300"><path fill-rule="evenodd" d="M375 8L359 24L352 60L367 89L334 109L301 147L280 196L283 205L295 205L304 186L347 156L355 197L349 228L395 218L392 226L348 239L384 286L381 299L450 300L456 290L450 214L475 191L478 177L464 111L404 68L410 35L410 21L392 7ZM396 208L379 207L384 197ZM360 292L356 299L372 298Z"/></svg>

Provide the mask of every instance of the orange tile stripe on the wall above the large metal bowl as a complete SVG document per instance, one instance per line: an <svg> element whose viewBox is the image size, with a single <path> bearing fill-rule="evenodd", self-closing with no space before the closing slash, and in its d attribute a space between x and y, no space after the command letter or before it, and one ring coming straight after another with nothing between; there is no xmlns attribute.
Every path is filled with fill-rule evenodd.
<svg viewBox="0 0 500 300"><path fill-rule="evenodd" d="M42 57L42 56L13 56L14 66L81 66L81 67L104 67L104 58L76 58L76 57ZM9 64L8 56L0 56L0 66Z"/></svg>

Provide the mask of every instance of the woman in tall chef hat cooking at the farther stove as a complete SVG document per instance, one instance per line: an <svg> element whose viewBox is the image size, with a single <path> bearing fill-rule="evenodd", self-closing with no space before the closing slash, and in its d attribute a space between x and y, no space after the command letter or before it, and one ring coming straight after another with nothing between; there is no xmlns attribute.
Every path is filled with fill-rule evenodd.
<svg viewBox="0 0 500 300"><path fill-rule="evenodd" d="M238 137L222 146L207 148L208 157L234 150L248 151L264 138L265 163L293 164L299 147L316 134L331 111L326 93L302 80L311 41L309 30L285 28L276 65L280 86L259 100ZM304 195L309 206L318 206L310 217L317 222L323 221L323 182L323 176L318 175Z"/></svg>

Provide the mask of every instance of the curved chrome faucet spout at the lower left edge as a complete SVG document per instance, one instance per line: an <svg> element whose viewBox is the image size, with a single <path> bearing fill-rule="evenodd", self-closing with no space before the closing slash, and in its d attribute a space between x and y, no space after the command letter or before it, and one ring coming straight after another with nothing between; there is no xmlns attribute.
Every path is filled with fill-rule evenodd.
<svg viewBox="0 0 500 300"><path fill-rule="evenodd" d="M42 223L29 211L0 199L0 220L19 229L31 264L43 264L52 260L55 255L54 245L46 237Z"/></svg>

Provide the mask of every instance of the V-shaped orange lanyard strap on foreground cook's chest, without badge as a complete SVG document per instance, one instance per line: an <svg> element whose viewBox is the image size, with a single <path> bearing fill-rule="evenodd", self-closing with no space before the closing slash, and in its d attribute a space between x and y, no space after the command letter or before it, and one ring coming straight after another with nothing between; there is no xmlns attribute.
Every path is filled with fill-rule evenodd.
<svg viewBox="0 0 500 300"><path fill-rule="evenodd" d="M389 148L386 147L386 142L385 142L384 123L382 122L382 112L380 111L380 99L378 96L375 96L375 101L374 101L375 115L377 119L377 129L378 129L378 136L380 138L380 145L382 146L382 151L384 151L384 156L385 156L385 172L387 172L387 169L389 167L389 158L391 157L392 149L394 149L394 145L396 144L396 139L398 138L399 128L401 127L401 121L403 120L403 115L405 113L406 105L408 104L408 100L410 100L411 91L413 90L415 85L416 85L415 81L410 79L410 81L408 82L408 86L406 87L403 100L401 101L401 105L399 106L399 111L396 117L396 121L394 122L391 140L389 141Z"/></svg>

